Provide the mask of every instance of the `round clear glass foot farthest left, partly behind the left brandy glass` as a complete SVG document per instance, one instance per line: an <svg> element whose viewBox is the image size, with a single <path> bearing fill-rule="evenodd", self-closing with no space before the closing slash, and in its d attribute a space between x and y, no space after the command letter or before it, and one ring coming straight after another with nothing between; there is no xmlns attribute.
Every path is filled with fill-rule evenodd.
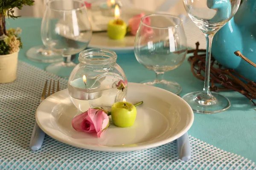
<svg viewBox="0 0 256 170"><path fill-rule="evenodd" d="M26 52L26 56L32 61L44 63L59 62L63 60L61 55L56 54L53 51L47 50L44 45L30 48Z"/></svg>

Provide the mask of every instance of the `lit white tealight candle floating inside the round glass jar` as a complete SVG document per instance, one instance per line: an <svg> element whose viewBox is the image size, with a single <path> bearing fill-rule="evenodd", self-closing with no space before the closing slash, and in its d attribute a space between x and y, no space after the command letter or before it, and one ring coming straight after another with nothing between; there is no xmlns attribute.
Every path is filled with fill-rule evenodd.
<svg viewBox="0 0 256 170"><path fill-rule="evenodd" d="M100 91L100 82L95 79L83 77L74 79L68 85L70 95L75 99L91 100L102 96Z"/></svg>

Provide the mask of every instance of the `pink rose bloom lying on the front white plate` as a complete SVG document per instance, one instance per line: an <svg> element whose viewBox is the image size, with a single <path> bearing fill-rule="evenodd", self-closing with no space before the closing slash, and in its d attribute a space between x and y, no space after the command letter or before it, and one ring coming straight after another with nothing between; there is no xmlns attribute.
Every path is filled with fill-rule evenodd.
<svg viewBox="0 0 256 170"><path fill-rule="evenodd" d="M96 132L98 138L109 126L108 114L102 109L90 109L72 119L72 126L77 131Z"/></svg>

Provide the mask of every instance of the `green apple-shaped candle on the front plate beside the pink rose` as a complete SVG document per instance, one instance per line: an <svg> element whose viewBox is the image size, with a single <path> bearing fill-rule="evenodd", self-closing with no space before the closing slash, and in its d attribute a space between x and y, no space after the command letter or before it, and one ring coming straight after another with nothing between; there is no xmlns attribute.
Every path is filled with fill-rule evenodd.
<svg viewBox="0 0 256 170"><path fill-rule="evenodd" d="M116 102L111 107L111 118L117 127L130 127L137 115L135 106L128 102Z"/></svg>

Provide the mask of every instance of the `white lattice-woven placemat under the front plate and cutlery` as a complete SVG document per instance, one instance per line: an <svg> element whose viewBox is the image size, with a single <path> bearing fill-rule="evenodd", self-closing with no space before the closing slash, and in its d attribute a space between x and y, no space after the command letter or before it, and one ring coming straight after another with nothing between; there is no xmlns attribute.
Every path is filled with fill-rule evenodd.
<svg viewBox="0 0 256 170"><path fill-rule="evenodd" d="M256 169L241 156L190 137L192 159L180 161L176 142L130 152L104 153L80 149L45 137L41 150L29 150L35 110L46 79L59 79L24 62L17 80L0 84L0 170L192 170ZM61 88L67 81L60 79Z"/></svg>

